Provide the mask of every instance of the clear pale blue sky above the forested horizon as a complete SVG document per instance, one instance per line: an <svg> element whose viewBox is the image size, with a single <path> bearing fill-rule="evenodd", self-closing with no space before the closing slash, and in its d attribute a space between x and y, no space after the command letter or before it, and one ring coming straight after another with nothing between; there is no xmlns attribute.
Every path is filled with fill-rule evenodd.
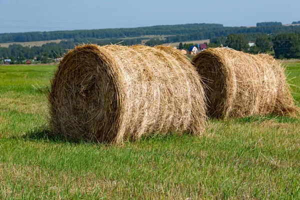
<svg viewBox="0 0 300 200"><path fill-rule="evenodd" d="M300 20L300 0L0 0L0 33Z"/></svg>

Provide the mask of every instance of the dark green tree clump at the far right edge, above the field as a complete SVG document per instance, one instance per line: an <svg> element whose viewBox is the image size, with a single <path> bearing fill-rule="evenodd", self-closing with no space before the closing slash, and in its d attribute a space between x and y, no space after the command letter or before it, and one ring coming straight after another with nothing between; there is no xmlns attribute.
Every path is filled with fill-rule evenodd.
<svg viewBox="0 0 300 200"><path fill-rule="evenodd" d="M278 34L273 39L276 58L300 58L300 36L296 33Z"/></svg>

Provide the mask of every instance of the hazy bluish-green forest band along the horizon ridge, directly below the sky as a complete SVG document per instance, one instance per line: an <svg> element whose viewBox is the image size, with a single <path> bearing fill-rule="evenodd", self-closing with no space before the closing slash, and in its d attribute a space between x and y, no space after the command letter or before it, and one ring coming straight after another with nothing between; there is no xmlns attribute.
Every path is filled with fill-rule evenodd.
<svg viewBox="0 0 300 200"><path fill-rule="evenodd" d="M86 38L112 39L127 37L146 37L146 35L167 35L166 42L209 39L231 33L271 33L274 31L292 31L296 26L282 26L281 22L258 22L257 27L229 27L215 23L191 23L178 25L156 25L135 28L105 28L92 30L34 31L21 33L0 33L0 43L25 42L55 39L82 40Z"/></svg>

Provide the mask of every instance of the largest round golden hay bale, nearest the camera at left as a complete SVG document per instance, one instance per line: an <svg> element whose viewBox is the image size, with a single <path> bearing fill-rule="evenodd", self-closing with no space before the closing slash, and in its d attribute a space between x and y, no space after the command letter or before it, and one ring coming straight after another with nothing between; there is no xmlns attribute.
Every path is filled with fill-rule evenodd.
<svg viewBox="0 0 300 200"><path fill-rule="evenodd" d="M171 47L76 46L58 64L48 99L53 134L69 139L200 134L206 119L199 75Z"/></svg>

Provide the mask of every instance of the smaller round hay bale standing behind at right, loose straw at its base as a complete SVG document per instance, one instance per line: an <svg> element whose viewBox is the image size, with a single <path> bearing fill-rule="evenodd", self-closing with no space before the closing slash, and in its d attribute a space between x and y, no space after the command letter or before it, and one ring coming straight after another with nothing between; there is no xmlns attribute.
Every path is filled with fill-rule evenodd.
<svg viewBox="0 0 300 200"><path fill-rule="evenodd" d="M211 117L299 113L284 68L268 54L208 48L192 58L203 80Z"/></svg>

